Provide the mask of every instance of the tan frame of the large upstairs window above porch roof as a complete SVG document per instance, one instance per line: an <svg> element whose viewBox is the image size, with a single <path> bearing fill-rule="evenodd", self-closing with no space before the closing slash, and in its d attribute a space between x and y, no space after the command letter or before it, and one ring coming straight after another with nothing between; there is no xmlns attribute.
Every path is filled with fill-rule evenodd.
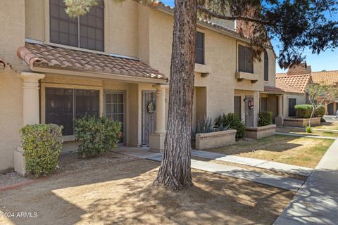
<svg viewBox="0 0 338 225"><path fill-rule="evenodd" d="M51 1L45 1L45 6L46 8L48 9L45 13L45 18L46 18L46 21L49 21L49 23L46 23L46 30L45 30L45 34L46 34L46 39L49 40L49 43L48 44L54 44L56 46L68 46L70 48L74 48L74 49L86 49L88 51L97 51L97 52L106 52L105 51L105 48L106 48L106 23L105 23L105 20L106 20L106 7L104 6L104 0L102 0L102 5L98 5L98 6L95 6L95 7L102 7L103 8L103 15L102 15L102 48L97 50L98 48L95 47L95 49L89 49L89 48L84 48L81 46L81 30L80 30L80 26L81 26L81 23L80 23L80 17L77 18L77 46L74 46L74 45L69 45L69 44L60 44L60 43L56 43L54 41L51 41ZM98 28L97 28L98 29ZM89 39L87 37L87 39ZM96 39L95 39L96 40ZM58 41L60 42L60 41Z"/></svg>

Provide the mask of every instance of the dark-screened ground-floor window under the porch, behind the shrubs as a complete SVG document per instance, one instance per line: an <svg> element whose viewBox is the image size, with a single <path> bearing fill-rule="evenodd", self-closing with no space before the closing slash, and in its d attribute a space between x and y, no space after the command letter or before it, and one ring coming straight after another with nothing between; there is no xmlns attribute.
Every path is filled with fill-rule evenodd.
<svg viewBox="0 0 338 225"><path fill-rule="evenodd" d="M73 119L85 114L99 117L99 91L46 88L46 124L63 126L63 135L73 134Z"/></svg>

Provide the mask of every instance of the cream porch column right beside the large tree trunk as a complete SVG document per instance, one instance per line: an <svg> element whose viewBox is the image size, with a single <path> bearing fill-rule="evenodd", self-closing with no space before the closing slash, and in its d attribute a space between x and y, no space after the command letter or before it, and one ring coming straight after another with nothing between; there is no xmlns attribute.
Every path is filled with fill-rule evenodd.
<svg viewBox="0 0 338 225"><path fill-rule="evenodd" d="M165 89L168 85L156 84L156 115L155 131L149 135L149 147L151 150L161 152L164 149L165 139Z"/></svg>

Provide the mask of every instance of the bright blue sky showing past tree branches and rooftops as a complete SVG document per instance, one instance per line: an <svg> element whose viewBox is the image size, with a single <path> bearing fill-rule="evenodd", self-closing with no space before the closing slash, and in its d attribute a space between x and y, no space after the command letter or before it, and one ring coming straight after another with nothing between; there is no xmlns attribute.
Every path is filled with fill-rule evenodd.
<svg viewBox="0 0 338 225"><path fill-rule="evenodd" d="M169 6L174 5L174 0L162 0L164 4ZM279 49L277 48L278 41L272 41L275 48L276 54L278 55ZM327 50L325 52L317 54L312 54L310 50L303 52L306 56L306 63L311 65L312 71L321 71L321 70L338 70L338 49ZM278 65L276 65L276 72L284 72L281 70Z"/></svg>

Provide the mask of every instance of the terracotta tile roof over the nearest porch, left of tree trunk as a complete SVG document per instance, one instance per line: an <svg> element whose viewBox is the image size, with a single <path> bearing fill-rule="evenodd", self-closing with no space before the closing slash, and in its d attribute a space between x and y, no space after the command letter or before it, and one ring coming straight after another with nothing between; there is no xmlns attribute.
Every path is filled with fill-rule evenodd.
<svg viewBox="0 0 338 225"><path fill-rule="evenodd" d="M17 53L30 68L63 68L131 77L167 79L165 75L146 63L129 58L29 43L20 47Z"/></svg>

